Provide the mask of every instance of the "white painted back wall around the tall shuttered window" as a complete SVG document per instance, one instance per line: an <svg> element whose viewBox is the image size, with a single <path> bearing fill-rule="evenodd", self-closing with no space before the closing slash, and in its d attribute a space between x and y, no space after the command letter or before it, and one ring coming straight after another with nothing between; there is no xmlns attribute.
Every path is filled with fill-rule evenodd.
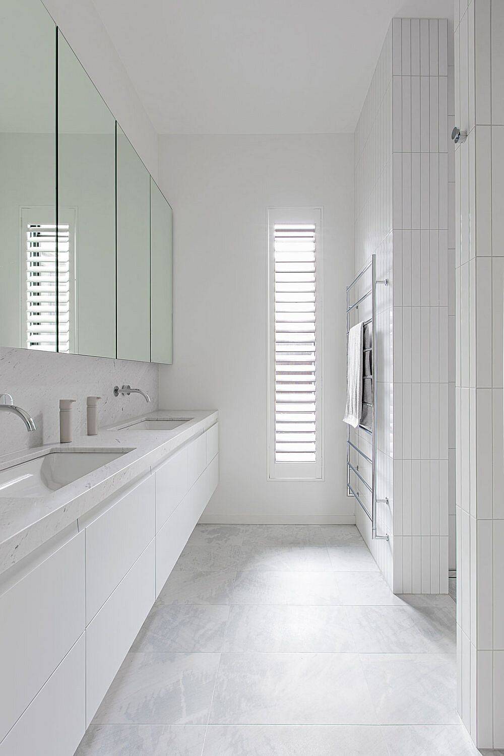
<svg viewBox="0 0 504 756"><path fill-rule="evenodd" d="M345 495L345 283L353 269L352 135L169 136L174 364L160 404L217 407L221 478L207 522L354 521ZM267 206L323 206L323 482L267 481Z"/></svg>

